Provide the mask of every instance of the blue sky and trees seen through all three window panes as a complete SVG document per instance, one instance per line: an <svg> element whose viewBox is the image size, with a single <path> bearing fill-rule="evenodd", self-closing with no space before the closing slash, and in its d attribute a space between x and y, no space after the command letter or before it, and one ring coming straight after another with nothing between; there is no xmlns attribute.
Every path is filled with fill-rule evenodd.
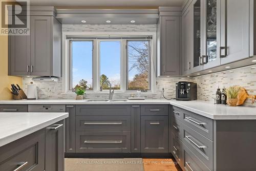
<svg viewBox="0 0 256 171"><path fill-rule="evenodd" d="M71 89L93 90L93 41L98 41L99 81L111 82L112 89L121 89L121 59L126 59L126 89L150 90L150 40L127 40L126 58L122 56L122 40L74 40L72 41ZM96 56L95 56L96 57ZM95 70L94 70L95 71ZM94 78L95 79L95 78ZM103 90L109 90L104 83Z"/></svg>

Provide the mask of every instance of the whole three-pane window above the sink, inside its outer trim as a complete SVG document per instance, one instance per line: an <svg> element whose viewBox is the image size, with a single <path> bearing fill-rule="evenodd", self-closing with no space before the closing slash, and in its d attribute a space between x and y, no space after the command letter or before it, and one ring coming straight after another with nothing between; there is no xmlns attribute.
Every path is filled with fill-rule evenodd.
<svg viewBox="0 0 256 171"><path fill-rule="evenodd" d="M151 90L152 36L68 37L69 90ZM68 78L68 77L66 77ZM154 79L154 78L153 78ZM104 83L103 90L109 90Z"/></svg>

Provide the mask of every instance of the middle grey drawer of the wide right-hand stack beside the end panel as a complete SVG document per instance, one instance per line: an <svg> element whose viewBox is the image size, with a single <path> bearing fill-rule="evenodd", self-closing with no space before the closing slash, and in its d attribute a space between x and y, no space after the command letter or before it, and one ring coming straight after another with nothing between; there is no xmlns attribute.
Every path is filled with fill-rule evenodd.
<svg viewBox="0 0 256 171"><path fill-rule="evenodd" d="M183 125L184 136L182 142L193 152L208 168L213 170L213 143L187 125Z"/></svg>

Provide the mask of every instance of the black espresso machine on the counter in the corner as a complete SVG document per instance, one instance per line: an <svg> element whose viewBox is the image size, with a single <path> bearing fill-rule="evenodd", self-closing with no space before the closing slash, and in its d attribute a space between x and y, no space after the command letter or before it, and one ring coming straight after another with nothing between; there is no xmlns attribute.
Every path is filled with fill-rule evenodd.
<svg viewBox="0 0 256 171"><path fill-rule="evenodd" d="M186 81L176 83L176 100L197 100L197 83Z"/></svg>

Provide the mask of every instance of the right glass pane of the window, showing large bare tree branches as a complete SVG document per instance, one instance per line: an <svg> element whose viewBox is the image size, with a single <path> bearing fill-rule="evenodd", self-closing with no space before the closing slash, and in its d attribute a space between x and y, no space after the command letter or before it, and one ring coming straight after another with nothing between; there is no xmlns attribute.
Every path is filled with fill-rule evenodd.
<svg viewBox="0 0 256 171"><path fill-rule="evenodd" d="M127 41L127 90L150 90L149 45L149 41Z"/></svg>

